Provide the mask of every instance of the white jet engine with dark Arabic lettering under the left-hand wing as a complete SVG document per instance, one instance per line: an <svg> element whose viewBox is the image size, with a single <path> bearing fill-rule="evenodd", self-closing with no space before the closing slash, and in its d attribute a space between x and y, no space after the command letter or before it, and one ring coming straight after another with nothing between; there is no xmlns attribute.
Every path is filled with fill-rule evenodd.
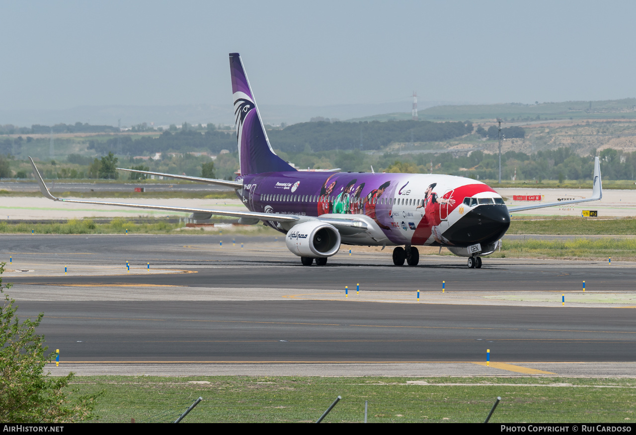
<svg viewBox="0 0 636 435"><path fill-rule="evenodd" d="M298 257L331 257L340 249L340 233L332 225L309 221L294 225L285 236L287 249Z"/></svg>

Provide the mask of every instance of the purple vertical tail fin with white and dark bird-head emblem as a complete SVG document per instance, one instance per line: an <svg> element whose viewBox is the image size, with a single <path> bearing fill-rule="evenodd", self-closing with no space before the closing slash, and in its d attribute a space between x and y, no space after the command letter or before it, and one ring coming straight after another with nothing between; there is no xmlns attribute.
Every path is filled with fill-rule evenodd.
<svg viewBox="0 0 636 435"><path fill-rule="evenodd" d="M270 145L239 53L230 53L230 74L241 175L295 171Z"/></svg>

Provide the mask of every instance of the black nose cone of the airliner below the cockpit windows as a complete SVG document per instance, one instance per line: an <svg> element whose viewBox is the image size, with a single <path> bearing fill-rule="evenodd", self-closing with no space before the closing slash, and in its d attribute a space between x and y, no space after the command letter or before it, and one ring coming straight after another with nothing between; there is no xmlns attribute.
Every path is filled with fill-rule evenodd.
<svg viewBox="0 0 636 435"><path fill-rule="evenodd" d="M482 204L455 222L443 236L458 246L490 244L501 239L509 226L508 207L504 204Z"/></svg>

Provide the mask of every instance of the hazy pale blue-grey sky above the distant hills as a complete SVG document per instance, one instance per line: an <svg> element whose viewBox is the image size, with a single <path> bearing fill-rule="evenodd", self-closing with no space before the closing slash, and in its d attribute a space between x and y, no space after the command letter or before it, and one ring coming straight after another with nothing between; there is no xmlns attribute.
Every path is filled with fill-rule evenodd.
<svg viewBox="0 0 636 435"><path fill-rule="evenodd" d="M636 97L634 1L0 0L0 109Z"/></svg>

